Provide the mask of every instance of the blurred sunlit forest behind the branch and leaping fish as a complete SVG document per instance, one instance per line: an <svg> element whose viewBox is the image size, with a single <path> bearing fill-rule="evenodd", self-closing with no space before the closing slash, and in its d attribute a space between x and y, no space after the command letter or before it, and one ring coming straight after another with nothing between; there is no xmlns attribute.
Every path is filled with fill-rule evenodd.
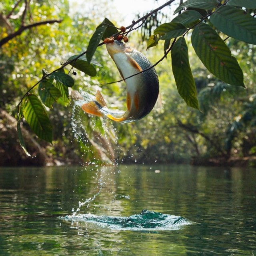
<svg viewBox="0 0 256 256"><path fill-rule="evenodd" d="M153 0L152 0L153 1ZM100 87L112 106L124 107L123 83L105 46L98 47L97 76L73 73L70 103L58 100L48 112L53 143L40 140L23 122L26 156L18 142L15 113L22 96L42 77L42 69L58 68L70 56L84 52L98 24L108 17L117 27L122 14L108 8L109 1L88 0L83 13L70 14L69 2L10 1L0 3L0 43L22 26L41 21L0 46L0 166L126 163L256 164L256 47L232 38L226 40L244 72L245 88L230 86L214 77L188 43L200 110L187 106L178 94L170 56L156 66L162 109L130 124L88 116L76 102L84 90L92 95ZM178 4L178 1L177 1ZM24 8L27 11L24 13ZM177 6L176 6L177 7ZM145 6L145 11L146 6ZM147 39L159 22L170 22L173 11L150 16L129 44L152 62L162 57L163 46L147 48ZM134 17L136 18L136 17ZM138 18L138 17L137 17ZM56 104L56 106L55 106Z"/></svg>

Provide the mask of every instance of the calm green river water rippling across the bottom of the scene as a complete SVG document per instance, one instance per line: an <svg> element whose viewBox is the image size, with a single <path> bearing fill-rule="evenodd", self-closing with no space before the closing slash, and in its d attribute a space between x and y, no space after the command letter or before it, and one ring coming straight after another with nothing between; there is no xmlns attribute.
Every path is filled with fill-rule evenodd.
<svg viewBox="0 0 256 256"><path fill-rule="evenodd" d="M254 256L256 169L0 168L0 255Z"/></svg>

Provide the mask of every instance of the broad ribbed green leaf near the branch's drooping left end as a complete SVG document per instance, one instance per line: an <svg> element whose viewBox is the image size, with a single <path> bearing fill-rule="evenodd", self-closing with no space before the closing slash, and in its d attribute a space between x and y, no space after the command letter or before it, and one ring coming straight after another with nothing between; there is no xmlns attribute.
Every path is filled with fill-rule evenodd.
<svg viewBox="0 0 256 256"><path fill-rule="evenodd" d="M42 140L52 143L52 126L47 112L35 94L23 100L23 115L32 131Z"/></svg>

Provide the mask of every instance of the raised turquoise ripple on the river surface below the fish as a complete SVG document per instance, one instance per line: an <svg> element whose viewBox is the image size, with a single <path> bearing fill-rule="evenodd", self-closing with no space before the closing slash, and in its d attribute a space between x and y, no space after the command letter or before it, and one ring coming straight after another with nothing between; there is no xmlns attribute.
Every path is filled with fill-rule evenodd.
<svg viewBox="0 0 256 256"><path fill-rule="evenodd" d="M180 216L142 210L129 217L97 216L94 214L68 215L63 220L98 224L112 230L177 230L192 222Z"/></svg>

